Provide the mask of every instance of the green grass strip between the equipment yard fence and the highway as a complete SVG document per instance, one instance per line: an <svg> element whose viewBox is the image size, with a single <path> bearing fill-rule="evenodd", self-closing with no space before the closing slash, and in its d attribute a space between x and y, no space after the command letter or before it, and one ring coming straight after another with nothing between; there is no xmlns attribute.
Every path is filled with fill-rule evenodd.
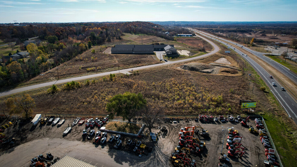
<svg viewBox="0 0 297 167"><path fill-rule="evenodd" d="M251 80L251 82L264 86L266 87L266 90L269 90L264 81L249 64L246 65L244 70L249 71L248 73L254 75L254 80ZM248 77L248 79L250 78ZM296 127L291 118L289 118L283 111L283 108L280 106L273 94L270 91L267 91L265 94L270 103L273 105L274 112L277 113L275 114L265 111L262 115L271 138L273 139L277 153L280 156L283 166L295 166L297 164Z"/></svg>

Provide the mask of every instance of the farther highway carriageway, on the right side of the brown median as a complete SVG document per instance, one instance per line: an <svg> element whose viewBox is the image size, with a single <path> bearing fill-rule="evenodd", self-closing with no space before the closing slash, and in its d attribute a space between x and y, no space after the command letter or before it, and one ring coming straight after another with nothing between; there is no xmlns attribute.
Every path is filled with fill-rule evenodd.
<svg viewBox="0 0 297 167"><path fill-rule="evenodd" d="M202 31L201 31L202 32ZM208 34L208 33L205 33L205 32L202 32L208 36L211 36L211 37L216 37L216 36L213 36L211 34ZM204 35L202 34L202 35ZM227 39L223 39L223 38L219 38L219 37L216 37L222 41L225 41L225 42L228 42L228 43L231 43L232 45L236 45L237 43L235 42L232 42L230 40L227 40ZM229 45L228 45L229 46ZM237 46L242 46L240 44L237 44ZM266 56L263 56L264 53L262 52L257 52L257 51L254 51L252 49L249 49L247 47L242 47L242 49L252 53L253 55L257 56L258 58L260 58L261 60L267 62L268 64L270 64L272 67L276 68L278 71L280 71L281 73L283 73L284 75L286 75L288 78L290 78L295 84L297 84L297 74L295 74L294 72L290 71L288 68L286 68L285 66L283 65L280 65L279 63L271 60L270 58L266 57ZM248 53L246 53L248 54Z"/></svg>

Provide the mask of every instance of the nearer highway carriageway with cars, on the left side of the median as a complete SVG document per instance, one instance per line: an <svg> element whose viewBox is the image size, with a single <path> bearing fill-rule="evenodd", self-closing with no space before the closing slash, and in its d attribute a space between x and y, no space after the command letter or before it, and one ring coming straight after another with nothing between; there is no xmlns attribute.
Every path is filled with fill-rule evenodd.
<svg viewBox="0 0 297 167"><path fill-rule="evenodd" d="M210 36L202 34L204 32L200 33L198 30L195 30L195 32L199 33L200 35L211 38ZM216 39L216 41L226 45L225 41L227 41L227 40L222 39L222 38L219 38L219 39L220 40ZM221 40L222 40L222 42L221 42ZM271 74L268 71L266 71L264 68L262 68L262 66L260 66L256 61L254 61L249 56L245 56L246 54L248 55L248 53L241 52L240 50L235 49L233 46L230 46L228 44L226 46L229 46L231 49L233 49L235 52L237 52L239 55L241 55L257 71L257 73L260 75L260 77L263 79L263 81L267 84L267 86L270 88L270 90L275 94L277 99L279 99L279 102L286 109L289 116L297 124L297 102L295 101L295 99L292 97L292 95L290 93L288 93L287 91L281 90L281 87L283 87L283 85L281 85L277 80L271 79L269 77ZM244 49L247 49L247 48L244 48ZM242 55L242 54L244 54L244 55ZM281 67L279 67L279 68L281 68ZM272 82L274 82L276 84L276 87L272 86L272 84L271 84Z"/></svg>

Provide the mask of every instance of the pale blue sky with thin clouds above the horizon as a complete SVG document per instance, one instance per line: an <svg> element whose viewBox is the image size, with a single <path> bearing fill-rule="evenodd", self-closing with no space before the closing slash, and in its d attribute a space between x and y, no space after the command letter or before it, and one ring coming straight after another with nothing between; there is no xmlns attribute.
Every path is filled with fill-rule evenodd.
<svg viewBox="0 0 297 167"><path fill-rule="evenodd" d="M0 23L297 21L297 0L0 0Z"/></svg>

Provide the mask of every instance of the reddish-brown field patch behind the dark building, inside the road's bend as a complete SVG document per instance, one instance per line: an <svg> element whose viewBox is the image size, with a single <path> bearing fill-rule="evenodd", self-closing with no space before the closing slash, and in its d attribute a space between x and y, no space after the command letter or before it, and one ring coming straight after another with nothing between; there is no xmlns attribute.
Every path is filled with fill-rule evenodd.
<svg viewBox="0 0 297 167"><path fill-rule="evenodd" d="M206 42L205 40L199 37L193 38L176 38L177 42L184 43L189 46L193 46L196 48L205 48L205 50L212 50L212 46Z"/></svg>

